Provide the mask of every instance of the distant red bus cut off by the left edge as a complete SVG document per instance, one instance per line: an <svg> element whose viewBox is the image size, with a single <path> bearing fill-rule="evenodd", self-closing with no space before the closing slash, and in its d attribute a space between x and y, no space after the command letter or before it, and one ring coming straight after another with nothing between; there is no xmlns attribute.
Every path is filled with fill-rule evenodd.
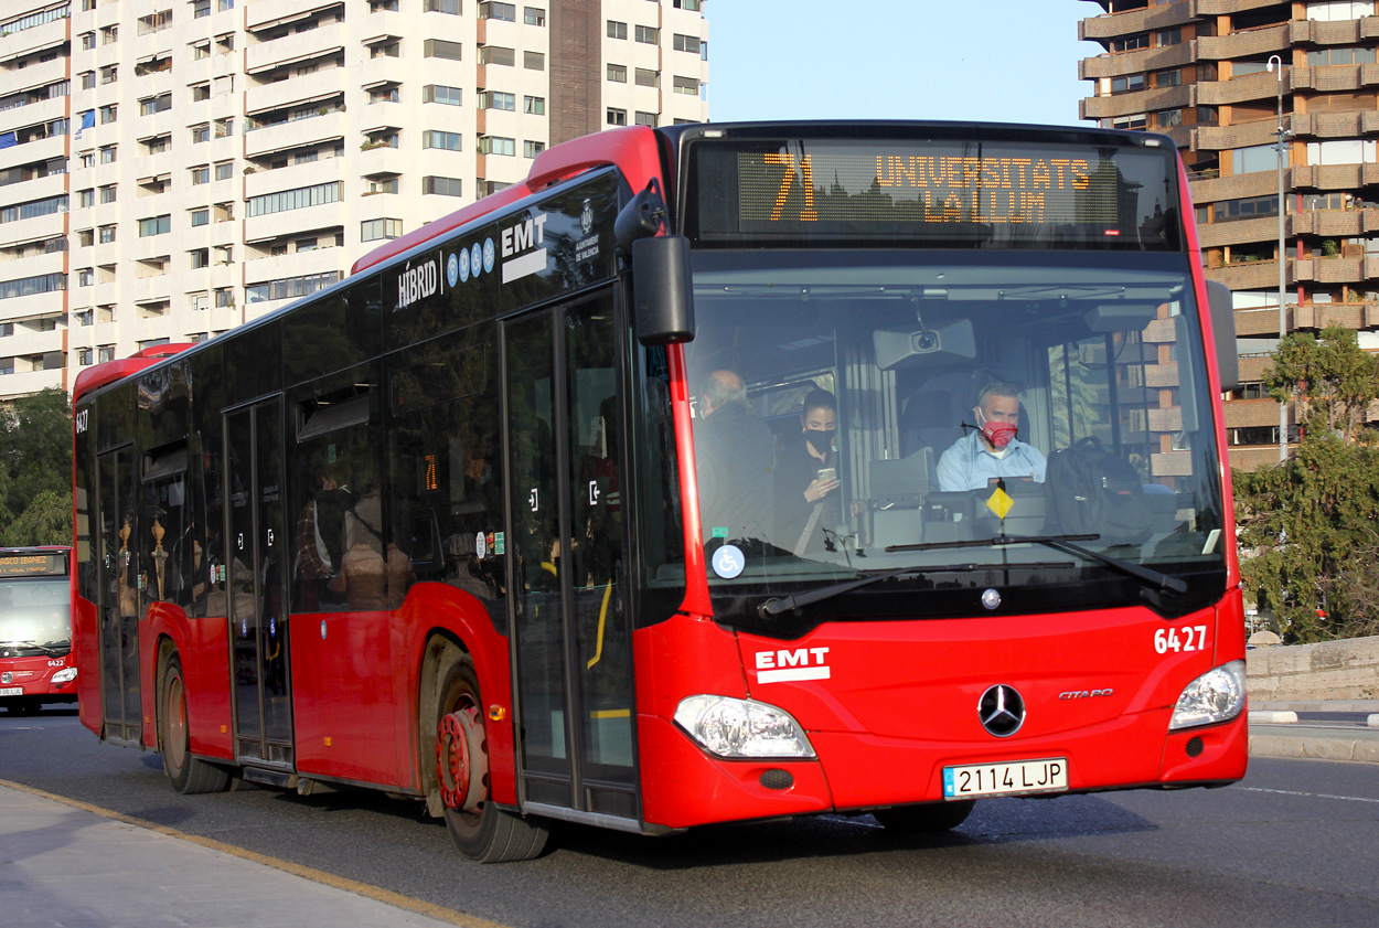
<svg viewBox="0 0 1379 928"><path fill-rule="evenodd" d="M0 706L77 700L70 547L0 549Z"/></svg>

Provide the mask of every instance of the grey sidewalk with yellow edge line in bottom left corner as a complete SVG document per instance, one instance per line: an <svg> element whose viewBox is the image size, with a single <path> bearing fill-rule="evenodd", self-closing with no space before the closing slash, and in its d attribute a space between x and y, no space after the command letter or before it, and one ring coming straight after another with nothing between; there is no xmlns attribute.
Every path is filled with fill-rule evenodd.
<svg viewBox="0 0 1379 928"><path fill-rule="evenodd" d="M6 928L501 928L332 874L0 785Z"/></svg>

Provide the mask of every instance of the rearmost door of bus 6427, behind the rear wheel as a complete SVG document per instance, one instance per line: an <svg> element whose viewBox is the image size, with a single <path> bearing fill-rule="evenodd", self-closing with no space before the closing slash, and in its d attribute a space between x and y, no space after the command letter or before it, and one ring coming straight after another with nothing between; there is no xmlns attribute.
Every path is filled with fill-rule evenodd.
<svg viewBox="0 0 1379 928"><path fill-rule="evenodd" d="M105 736L139 743L139 512L134 447L97 459L101 525L101 712Z"/></svg>

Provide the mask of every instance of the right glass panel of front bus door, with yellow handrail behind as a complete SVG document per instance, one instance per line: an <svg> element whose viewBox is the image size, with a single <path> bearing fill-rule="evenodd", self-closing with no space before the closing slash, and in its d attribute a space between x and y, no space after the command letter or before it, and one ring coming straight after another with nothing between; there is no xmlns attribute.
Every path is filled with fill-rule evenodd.
<svg viewBox="0 0 1379 928"><path fill-rule="evenodd" d="M632 783L632 666L623 609L622 480L612 301L568 312L565 332L575 681L582 779Z"/></svg>

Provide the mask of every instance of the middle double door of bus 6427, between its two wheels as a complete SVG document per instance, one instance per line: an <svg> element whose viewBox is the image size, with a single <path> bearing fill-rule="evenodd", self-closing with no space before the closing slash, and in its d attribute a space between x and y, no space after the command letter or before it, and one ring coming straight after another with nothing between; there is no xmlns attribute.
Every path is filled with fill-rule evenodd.
<svg viewBox="0 0 1379 928"><path fill-rule="evenodd" d="M281 397L225 415L236 760L291 767Z"/></svg>

